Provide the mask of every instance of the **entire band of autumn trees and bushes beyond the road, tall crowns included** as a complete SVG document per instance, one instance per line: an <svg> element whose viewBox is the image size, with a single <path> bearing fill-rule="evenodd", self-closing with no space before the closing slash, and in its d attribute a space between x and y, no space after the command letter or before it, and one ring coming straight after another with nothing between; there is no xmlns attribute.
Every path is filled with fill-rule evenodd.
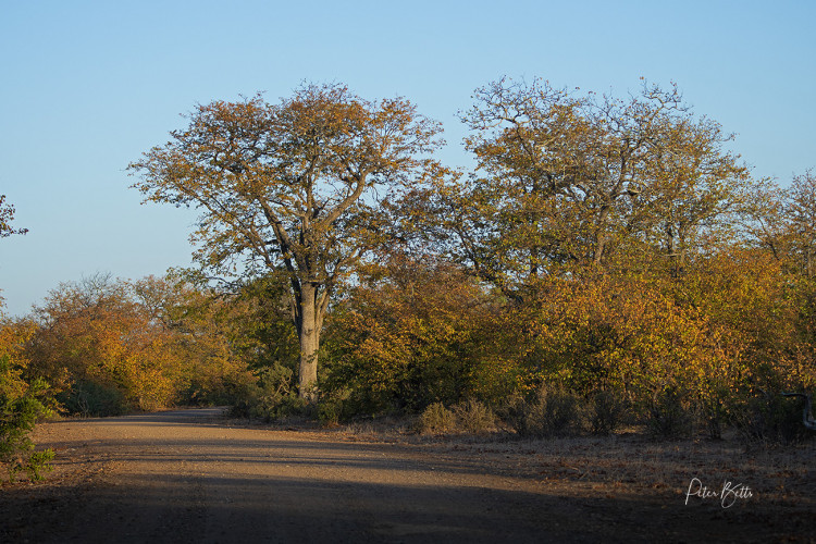
<svg viewBox="0 0 816 544"><path fill-rule="evenodd" d="M440 128L401 99L200 107L131 165L147 199L202 210L200 269L61 285L3 321L3 383L83 415L801 437L779 394L816 381L813 172L753 178L676 88L503 79L460 118L473 172L421 158Z"/></svg>

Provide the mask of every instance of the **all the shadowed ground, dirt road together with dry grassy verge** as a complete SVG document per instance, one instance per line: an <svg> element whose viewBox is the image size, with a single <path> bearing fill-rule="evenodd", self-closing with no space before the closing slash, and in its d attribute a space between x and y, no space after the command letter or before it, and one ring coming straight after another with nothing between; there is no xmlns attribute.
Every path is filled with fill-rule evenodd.
<svg viewBox="0 0 816 544"><path fill-rule="evenodd" d="M217 409L55 421L35 442L54 470L0 487L0 542L816 542L813 445L429 438Z"/></svg>

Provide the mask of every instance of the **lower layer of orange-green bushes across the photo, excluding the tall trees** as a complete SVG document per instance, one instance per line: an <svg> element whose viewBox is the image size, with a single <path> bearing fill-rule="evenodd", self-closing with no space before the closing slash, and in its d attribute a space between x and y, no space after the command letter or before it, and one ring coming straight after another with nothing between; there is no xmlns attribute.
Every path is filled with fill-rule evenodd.
<svg viewBox="0 0 816 544"><path fill-rule="evenodd" d="M508 297L460 264L395 254L333 305L314 404L297 394L280 283L227 290L97 275L3 321L4 394L15 383L17 397L86 417L232 405L324 422L478 401L524 433L534 423L519 410L548 392L576 413L545 434L638 421L665 435L737 425L791 441L803 435L801 405L779 393L811 392L816 378L816 281L802 264L795 251L778 259L738 244L682 273L573 269ZM598 401L607 411L593 412Z"/></svg>

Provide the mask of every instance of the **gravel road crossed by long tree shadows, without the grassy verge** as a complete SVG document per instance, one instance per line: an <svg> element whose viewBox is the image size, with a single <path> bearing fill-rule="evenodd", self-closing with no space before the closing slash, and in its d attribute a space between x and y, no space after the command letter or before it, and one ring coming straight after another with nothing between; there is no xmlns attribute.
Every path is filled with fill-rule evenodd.
<svg viewBox="0 0 816 544"><path fill-rule="evenodd" d="M36 441L57 450L55 469L45 484L1 490L0 542L632 542L759 534L739 522L750 523L750 511L718 521L718 508L683 509L679 496L670 497L675 515L667 516L666 493L610 500L585 486L570 495L566 490L589 485L583 477L547 485L541 466L515 465L529 455L232 424L217 409L57 421L40 425ZM695 519L701 512L705 522Z"/></svg>

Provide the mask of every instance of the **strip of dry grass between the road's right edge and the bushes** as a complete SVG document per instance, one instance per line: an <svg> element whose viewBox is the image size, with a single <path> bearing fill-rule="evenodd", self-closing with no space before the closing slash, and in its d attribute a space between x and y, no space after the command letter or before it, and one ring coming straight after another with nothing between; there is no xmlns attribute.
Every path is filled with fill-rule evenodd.
<svg viewBox="0 0 816 544"><path fill-rule="evenodd" d="M786 447L746 445L735 434L657 441L641 429L609 436L518 438L411 434L410 425L378 421L338 432L347 440L400 442L447 456L450 462L492 465L498 473L546 484L567 496L642 496L656 494L685 500L690 482L700 479L719 493L725 482L751 489L754 504L811 508L816 512L816 441ZM690 497L690 504L695 497ZM816 521L816 518L814 518Z"/></svg>

